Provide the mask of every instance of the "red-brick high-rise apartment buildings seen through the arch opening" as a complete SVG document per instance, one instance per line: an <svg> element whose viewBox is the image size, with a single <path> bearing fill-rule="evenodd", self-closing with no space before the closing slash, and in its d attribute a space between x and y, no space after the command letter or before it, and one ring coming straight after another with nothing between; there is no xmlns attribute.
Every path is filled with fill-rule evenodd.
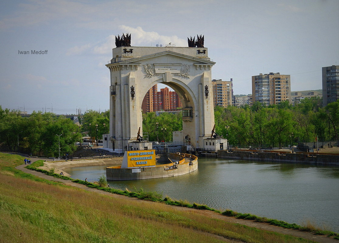
<svg viewBox="0 0 339 243"><path fill-rule="evenodd" d="M169 91L167 87L158 91L158 85L149 89L142 101L143 113L180 108L180 98L175 91Z"/></svg>

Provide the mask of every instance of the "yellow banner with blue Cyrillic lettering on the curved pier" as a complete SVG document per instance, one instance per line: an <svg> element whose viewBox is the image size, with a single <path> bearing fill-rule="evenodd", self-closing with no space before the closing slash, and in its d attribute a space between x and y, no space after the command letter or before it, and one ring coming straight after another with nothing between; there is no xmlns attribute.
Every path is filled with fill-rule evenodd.
<svg viewBox="0 0 339 243"><path fill-rule="evenodd" d="M155 150L127 151L127 167L155 166Z"/></svg>

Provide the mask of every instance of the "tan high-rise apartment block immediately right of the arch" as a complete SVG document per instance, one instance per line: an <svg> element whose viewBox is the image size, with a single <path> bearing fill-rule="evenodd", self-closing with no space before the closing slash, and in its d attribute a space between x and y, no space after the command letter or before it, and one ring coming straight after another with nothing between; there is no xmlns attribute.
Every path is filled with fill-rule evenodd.
<svg viewBox="0 0 339 243"><path fill-rule="evenodd" d="M222 81L221 79L212 80L213 87L213 103L216 106L232 106L233 105L233 80Z"/></svg>

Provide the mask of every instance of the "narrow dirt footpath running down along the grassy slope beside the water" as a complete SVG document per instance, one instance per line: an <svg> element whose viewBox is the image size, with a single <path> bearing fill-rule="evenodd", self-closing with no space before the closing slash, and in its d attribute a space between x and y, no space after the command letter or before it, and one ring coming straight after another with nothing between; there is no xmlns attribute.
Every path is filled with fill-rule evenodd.
<svg viewBox="0 0 339 243"><path fill-rule="evenodd" d="M33 159L32 159L32 161L33 161ZM74 182L69 181L69 180L63 180L63 179L55 178L53 176L48 176L48 175L45 175L41 172L25 169L24 168L25 166L26 166L25 164L22 164L22 165L17 166L16 169L21 170L25 173L36 175L36 176L44 178L46 180L59 181L59 182L62 182L63 184L65 184L65 185L74 186L74 187L77 187L79 189L83 189L85 191L95 192L95 193L98 193L98 194L107 195L107 196L114 197L114 198L123 198L125 200L139 200L137 198L126 197L126 196L122 196L122 195L117 195L117 194L112 194L112 193L109 193L109 192L97 190L95 188L89 188L85 185L82 185L82 184L79 184L79 183L74 183ZM150 201L143 201L143 202L155 203L155 202L150 202ZM215 219L220 219L220 220L230 222L230 223L238 223L238 224L242 224L242 225L246 225L246 226L250 226L250 227L256 227L256 228L259 228L259 229L273 231L273 232L277 232L277 233L281 233L281 234L285 234L285 235L292 235L292 236L295 236L295 237L300 237L300 238L304 238L304 239L308 239L308 240L312 240L312 241L316 241L316 242L320 242L320 243L339 243L338 240L334 240L334 239L331 239L331 238L328 238L328 237L316 236L316 235L313 235L311 233L307 233L307 232L303 232L303 231L299 231L299 230L285 229L285 228L270 225L270 224L267 224L267 223L259 223L259 222L254 222L254 221L251 221L251 220L243 220L243 219L236 219L236 218L233 218L233 217L227 217L227 216L224 216L224 215L212 212L212 211L198 210L198 209L193 209L193 208L171 206L171 205L168 205L168 207L174 207L176 210L179 210L179 211L191 212L191 213L207 216L209 218L215 218Z"/></svg>

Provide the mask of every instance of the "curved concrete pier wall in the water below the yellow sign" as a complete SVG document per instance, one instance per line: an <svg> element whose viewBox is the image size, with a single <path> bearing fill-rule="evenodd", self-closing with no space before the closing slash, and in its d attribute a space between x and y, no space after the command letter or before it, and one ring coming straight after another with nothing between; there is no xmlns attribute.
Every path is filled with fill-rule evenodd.
<svg viewBox="0 0 339 243"><path fill-rule="evenodd" d="M152 178L163 178L169 176L180 176L191 173L198 169L198 158L191 154L169 154L173 160L178 160L179 164L156 165L155 167L140 167L137 169L121 169L121 166L106 168L107 180L141 180ZM188 161L185 158L190 158Z"/></svg>

